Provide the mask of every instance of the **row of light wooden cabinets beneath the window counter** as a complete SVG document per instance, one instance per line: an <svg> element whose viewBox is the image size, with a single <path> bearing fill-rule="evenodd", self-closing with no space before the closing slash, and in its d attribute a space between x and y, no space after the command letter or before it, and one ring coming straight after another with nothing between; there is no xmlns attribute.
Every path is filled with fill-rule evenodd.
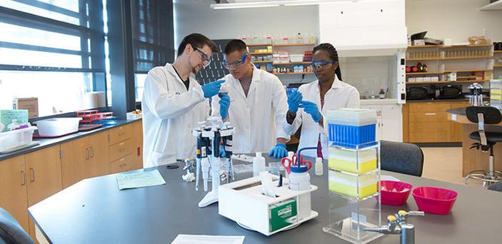
<svg viewBox="0 0 502 244"><path fill-rule="evenodd" d="M141 126L136 121L0 161L0 207L35 239L29 206L85 178L142 168Z"/></svg>

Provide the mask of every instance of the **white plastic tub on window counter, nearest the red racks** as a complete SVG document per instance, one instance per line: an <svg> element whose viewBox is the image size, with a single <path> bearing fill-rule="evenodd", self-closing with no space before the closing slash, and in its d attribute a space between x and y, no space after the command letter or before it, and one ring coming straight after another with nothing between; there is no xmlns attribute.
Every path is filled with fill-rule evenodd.
<svg viewBox="0 0 502 244"><path fill-rule="evenodd" d="M48 118L35 123L40 136L55 137L79 131L81 120L82 118Z"/></svg>

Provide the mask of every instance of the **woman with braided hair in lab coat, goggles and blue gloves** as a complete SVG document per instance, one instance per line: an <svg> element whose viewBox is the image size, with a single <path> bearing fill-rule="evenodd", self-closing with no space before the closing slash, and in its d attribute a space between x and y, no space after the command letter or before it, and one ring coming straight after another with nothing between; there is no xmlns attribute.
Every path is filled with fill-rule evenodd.
<svg viewBox="0 0 502 244"><path fill-rule="evenodd" d="M359 93L341 81L338 52L331 44L319 44L313 49L311 66L318 80L300 86L288 97L284 130L291 135L301 126L298 149L320 146L321 150L308 150L304 155L328 158L328 127L324 115L337 108L358 108Z"/></svg>

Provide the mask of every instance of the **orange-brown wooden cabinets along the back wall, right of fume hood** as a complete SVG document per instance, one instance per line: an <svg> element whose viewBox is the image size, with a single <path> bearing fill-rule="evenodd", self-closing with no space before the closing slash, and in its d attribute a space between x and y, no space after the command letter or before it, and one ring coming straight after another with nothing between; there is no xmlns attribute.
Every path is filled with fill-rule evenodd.
<svg viewBox="0 0 502 244"><path fill-rule="evenodd" d="M403 131L406 142L461 142L462 128L448 120L446 111L468 106L464 101L408 103L403 108Z"/></svg>

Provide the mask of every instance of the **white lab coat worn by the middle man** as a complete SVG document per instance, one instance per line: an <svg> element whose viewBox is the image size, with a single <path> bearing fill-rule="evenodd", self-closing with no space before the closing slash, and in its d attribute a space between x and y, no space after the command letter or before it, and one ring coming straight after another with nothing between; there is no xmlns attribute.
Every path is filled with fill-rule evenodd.
<svg viewBox="0 0 502 244"><path fill-rule="evenodd" d="M268 153L276 138L289 140L283 130L288 111L286 89L277 76L254 67L247 98L241 81L231 74L223 79L230 88L228 121L235 127L233 153ZM218 96L213 97L213 116L220 116L219 101Z"/></svg>

